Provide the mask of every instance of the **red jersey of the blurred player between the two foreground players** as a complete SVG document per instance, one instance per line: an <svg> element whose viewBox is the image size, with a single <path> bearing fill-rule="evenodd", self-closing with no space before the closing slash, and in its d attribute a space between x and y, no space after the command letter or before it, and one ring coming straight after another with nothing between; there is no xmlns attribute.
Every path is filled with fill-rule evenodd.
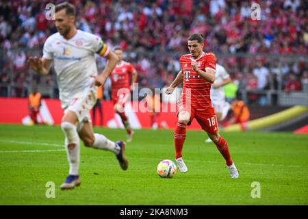
<svg viewBox="0 0 308 219"><path fill-rule="evenodd" d="M133 73L135 68L129 63L122 61L121 64L117 64L112 71L110 77L112 79L112 99L115 100L120 96L118 90L120 88L127 88L130 90L129 74Z"/></svg>

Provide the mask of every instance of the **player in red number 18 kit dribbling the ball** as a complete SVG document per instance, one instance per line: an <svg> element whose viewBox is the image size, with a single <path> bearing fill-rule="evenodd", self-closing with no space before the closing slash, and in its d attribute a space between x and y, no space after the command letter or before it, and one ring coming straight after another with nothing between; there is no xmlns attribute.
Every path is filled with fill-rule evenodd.
<svg viewBox="0 0 308 219"><path fill-rule="evenodd" d="M166 94L172 94L175 88L183 82L183 92L178 101L178 123L175 129L175 158L181 172L188 168L183 162L182 149L186 138L186 125L196 118L201 128L216 144L226 160L232 178L238 178L238 169L233 163L228 143L218 133L218 123L215 110L211 104L211 83L215 81L216 63L214 55L203 52L203 35L192 34L188 38L190 54L180 58L181 70L166 89Z"/></svg>

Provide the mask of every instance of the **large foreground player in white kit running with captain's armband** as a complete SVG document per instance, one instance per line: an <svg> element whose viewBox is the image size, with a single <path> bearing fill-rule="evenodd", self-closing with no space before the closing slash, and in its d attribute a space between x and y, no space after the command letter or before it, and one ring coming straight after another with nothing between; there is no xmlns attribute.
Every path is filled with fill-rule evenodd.
<svg viewBox="0 0 308 219"><path fill-rule="evenodd" d="M54 62L60 101L64 109L62 131L65 135L69 175L61 185L62 190L80 185L79 179L79 138L86 146L115 153L120 167L128 168L125 157L125 142L112 142L105 136L94 133L90 120L90 110L97 101L97 88L105 83L116 66L118 57L98 36L75 27L75 6L60 3L55 7L55 27L57 33L49 36L44 43L43 56L29 57L29 65L39 75L47 75ZM98 75L95 53L108 62Z"/></svg>

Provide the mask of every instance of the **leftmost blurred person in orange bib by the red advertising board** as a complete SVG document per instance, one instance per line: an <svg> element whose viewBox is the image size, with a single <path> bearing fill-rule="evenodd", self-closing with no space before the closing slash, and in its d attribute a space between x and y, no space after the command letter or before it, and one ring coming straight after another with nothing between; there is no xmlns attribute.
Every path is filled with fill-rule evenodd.
<svg viewBox="0 0 308 219"><path fill-rule="evenodd" d="M38 92L38 88L33 88L29 95L29 113L32 120L31 125L38 124L38 115L40 114L40 106L42 105L42 94Z"/></svg>

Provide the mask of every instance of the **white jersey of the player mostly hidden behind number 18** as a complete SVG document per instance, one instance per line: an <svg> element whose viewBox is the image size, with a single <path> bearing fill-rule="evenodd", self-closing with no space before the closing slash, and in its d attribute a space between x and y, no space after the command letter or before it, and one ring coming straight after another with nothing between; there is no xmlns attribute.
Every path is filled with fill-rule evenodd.
<svg viewBox="0 0 308 219"><path fill-rule="evenodd" d="M229 78L230 75L227 73L227 70L224 69L223 66L216 63L216 74L215 74L215 82L221 83L225 79ZM224 101L224 88L223 86L220 88L214 88L211 86L211 100L212 101Z"/></svg>

